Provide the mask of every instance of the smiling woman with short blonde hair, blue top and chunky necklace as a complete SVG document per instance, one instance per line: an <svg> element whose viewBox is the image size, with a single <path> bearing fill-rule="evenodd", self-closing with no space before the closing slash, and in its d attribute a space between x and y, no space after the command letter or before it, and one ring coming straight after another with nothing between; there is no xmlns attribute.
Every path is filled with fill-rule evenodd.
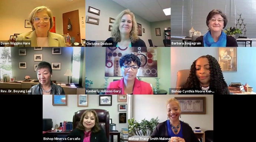
<svg viewBox="0 0 256 142"><path fill-rule="evenodd" d="M199 142L192 128L179 120L181 110L178 100L170 98L166 104L167 117L166 120L157 125L148 142L154 142L155 139L170 138L163 142Z"/></svg>

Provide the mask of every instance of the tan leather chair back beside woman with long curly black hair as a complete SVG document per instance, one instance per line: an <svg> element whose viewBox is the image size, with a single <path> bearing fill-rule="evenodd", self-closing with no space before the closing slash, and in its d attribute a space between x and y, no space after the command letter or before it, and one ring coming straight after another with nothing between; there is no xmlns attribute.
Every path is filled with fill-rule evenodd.
<svg viewBox="0 0 256 142"><path fill-rule="evenodd" d="M189 73L190 73L190 69L179 70L177 72L177 80L176 80L177 90L180 90L180 88L187 82Z"/></svg>

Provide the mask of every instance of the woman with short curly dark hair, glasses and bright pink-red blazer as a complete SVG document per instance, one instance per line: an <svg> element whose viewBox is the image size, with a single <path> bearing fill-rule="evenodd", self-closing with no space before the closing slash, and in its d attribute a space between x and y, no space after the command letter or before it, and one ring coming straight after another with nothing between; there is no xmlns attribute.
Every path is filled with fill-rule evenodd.
<svg viewBox="0 0 256 142"><path fill-rule="evenodd" d="M136 78L141 60L134 54L124 55L119 60L123 78L109 83L106 94L153 94L149 83L140 81ZM115 93L115 90L122 90ZM110 93L112 91L112 93Z"/></svg>

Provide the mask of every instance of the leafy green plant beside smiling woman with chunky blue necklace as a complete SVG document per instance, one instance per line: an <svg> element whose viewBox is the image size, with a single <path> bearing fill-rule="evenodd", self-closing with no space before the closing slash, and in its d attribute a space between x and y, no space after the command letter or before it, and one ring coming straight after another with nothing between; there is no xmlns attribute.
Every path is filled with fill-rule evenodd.
<svg viewBox="0 0 256 142"><path fill-rule="evenodd" d="M158 117L155 119L151 118L150 121L144 118L141 122L137 122L134 118L128 119L128 132L131 135L149 136L153 133L157 124L159 124L158 121Z"/></svg>

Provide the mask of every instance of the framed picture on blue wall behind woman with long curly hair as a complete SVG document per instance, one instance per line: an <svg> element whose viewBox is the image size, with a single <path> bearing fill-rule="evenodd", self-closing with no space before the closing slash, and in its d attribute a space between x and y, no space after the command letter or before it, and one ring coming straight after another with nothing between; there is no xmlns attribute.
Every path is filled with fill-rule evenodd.
<svg viewBox="0 0 256 142"><path fill-rule="evenodd" d="M222 72L237 72L237 47L218 47L217 60Z"/></svg>

